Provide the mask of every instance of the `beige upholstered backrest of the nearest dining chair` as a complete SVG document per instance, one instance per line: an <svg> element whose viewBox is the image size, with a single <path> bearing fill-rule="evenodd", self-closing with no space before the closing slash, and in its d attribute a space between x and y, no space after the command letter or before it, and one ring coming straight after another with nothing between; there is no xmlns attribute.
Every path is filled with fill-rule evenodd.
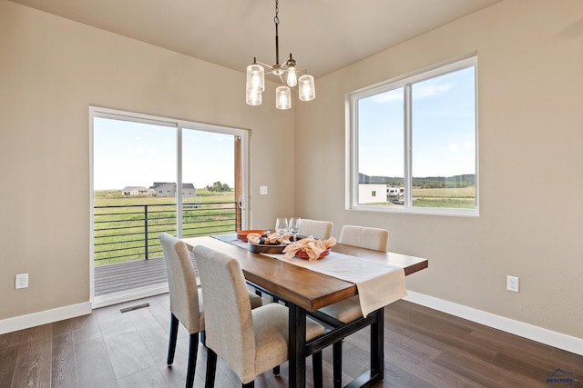
<svg viewBox="0 0 583 388"><path fill-rule="evenodd" d="M195 246L200 286L205 298L206 345L242 382L255 378L255 335L245 278L237 260L202 245ZM235 297L233 297L235 295Z"/></svg>

